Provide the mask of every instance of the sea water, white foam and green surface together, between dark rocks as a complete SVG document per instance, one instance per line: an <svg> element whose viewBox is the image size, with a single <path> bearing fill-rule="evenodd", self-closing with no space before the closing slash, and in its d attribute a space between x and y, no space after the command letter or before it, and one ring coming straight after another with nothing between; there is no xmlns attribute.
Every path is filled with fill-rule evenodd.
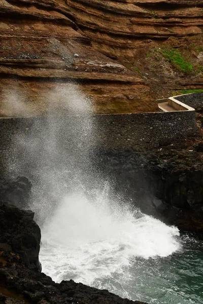
<svg viewBox="0 0 203 304"><path fill-rule="evenodd" d="M42 229L43 272L149 303L203 303L203 248L104 194L66 196Z"/></svg>

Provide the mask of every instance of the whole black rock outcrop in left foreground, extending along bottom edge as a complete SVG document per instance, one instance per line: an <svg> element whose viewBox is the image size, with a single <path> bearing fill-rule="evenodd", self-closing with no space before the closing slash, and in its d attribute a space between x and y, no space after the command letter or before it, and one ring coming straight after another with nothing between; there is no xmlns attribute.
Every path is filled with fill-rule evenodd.
<svg viewBox="0 0 203 304"><path fill-rule="evenodd" d="M144 304L75 283L55 283L41 273L40 228L33 212L0 203L0 302L4 304Z"/></svg>

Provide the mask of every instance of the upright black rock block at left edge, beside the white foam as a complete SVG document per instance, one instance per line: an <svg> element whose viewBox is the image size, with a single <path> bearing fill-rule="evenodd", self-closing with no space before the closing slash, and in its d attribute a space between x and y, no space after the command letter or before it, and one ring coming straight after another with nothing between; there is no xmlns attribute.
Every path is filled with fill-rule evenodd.
<svg viewBox="0 0 203 304"><path fill-rule="evenodd" d="M41 271L39 262L41 232L33 217L32 211L20 210L1 201L0 249L11 252L11 261L19 260L19 263L28 269Z"/></svg>

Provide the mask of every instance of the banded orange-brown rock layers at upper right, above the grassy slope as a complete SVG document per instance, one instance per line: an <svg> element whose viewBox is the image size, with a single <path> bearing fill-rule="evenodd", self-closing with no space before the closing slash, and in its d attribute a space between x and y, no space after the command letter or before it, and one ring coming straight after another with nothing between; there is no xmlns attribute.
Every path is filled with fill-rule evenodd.
<svg viewBox="0 0 203 304"><path fill-rule="evenodd" d="M201 1L69 0L77 25L108 56L134 60L142 43L202 34Z"/></svg>

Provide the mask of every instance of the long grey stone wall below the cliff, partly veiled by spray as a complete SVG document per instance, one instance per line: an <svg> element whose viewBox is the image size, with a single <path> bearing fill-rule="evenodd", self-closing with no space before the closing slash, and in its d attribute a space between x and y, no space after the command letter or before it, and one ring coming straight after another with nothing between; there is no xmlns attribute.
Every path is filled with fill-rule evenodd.
<svg viewBox="0 0 203 304"><path fill-rule="evenodd" d="M53 136L63 146L150 148L172 143L196 131L195 111L133 113L52 118L10 118L0 120L2 150L13 136L26 142L32 136L50 141ZM73 142L74 137L74 142ZM19 137L18 139L19 140Z"/></svg>

